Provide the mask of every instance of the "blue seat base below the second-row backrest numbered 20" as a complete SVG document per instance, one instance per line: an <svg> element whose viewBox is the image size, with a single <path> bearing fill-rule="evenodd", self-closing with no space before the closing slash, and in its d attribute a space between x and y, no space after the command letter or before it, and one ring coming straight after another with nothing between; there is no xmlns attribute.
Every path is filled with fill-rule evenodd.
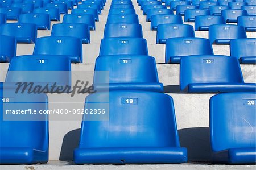
<svg viewBox="0 0 256 170"><path fill-rule="evenodd" d="M195 83L188 84L189 93L255 92L255 83Z"/></svg>

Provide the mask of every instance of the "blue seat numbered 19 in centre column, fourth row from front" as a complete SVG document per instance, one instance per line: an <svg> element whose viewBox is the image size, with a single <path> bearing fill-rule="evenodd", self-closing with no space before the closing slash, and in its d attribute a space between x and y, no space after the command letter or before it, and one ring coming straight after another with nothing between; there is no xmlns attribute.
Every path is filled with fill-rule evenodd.
<svg viewBox="0 0 256 170"><path fill-rule="evenodd" d="M110 37L138 37L143 38L141 24L110 23L105 25L104 38Z"/></svg>

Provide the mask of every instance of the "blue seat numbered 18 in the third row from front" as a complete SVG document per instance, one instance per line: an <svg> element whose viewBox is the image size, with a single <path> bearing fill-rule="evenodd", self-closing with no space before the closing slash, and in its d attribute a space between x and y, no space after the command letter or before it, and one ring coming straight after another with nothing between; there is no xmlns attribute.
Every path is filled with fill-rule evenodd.
<svg viewBox="0 0 256 170"><path fill-rule="evenodd" d="M33 54L68 56L72 63L82 63L82 42L70 36L45 36L36 39Z"/></svg>

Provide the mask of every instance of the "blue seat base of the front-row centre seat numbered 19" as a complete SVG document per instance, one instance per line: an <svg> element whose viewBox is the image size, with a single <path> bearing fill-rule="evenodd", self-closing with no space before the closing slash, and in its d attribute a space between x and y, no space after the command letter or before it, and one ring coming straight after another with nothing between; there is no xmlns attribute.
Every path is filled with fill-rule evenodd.
<svg viewBox="0 0 256 170"><path fill-rule="evenodd" d="M185 163L187 149L183 147L109 147L77 148L76 164L143 164Z"/></svg>

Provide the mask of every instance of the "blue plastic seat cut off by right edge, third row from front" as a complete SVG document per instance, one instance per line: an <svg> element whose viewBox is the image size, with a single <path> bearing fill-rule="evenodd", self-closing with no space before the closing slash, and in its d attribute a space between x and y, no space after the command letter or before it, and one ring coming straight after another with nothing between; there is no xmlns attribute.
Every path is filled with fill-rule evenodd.
<svg viewBox="0 0 256 170"><path fill-rule="evenodd" d="M230 56L237 57L241 64L256 64L256 39L230 40Z"/></svg>

